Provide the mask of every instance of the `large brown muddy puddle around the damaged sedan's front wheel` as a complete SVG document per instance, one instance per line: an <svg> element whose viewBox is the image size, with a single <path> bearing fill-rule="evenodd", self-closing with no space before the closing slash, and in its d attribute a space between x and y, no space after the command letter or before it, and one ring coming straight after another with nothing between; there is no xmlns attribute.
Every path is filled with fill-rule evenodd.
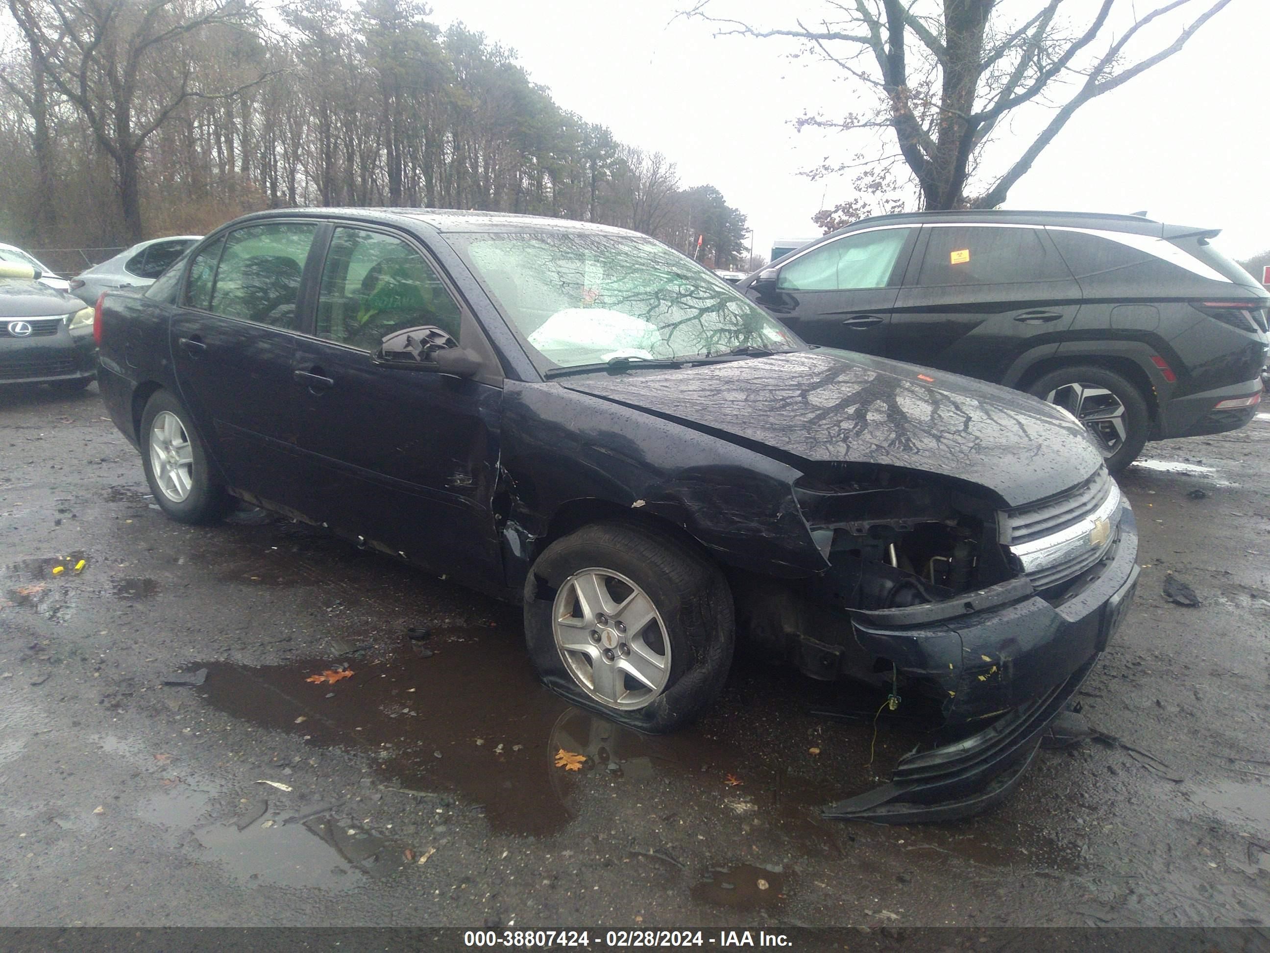
<svg viewBox="0 0 1270 953"><path fill-rule="evenodd" d="M544 689L518 634L437 630L424 654L410 642L403 635L400 647L377 658L197 663L208 670L197 691L255 726L318 747L368 754L380 785L457 795L499 834L549 836L578 818L606 817L617 798L643 806L640 823L649 837L669 825L726 823L800 854L928 848L984 864L1067 864L1078 850L1010 812L974 827L847 826L820 818L822 806L884 781L895 760L921 741L909 728L884 724L874 742L871 726L810 714L842 705L833 686L740 666L701 723L646 736ZM353 673L344 676L343 665ZM338 677L330 681L324 672ZM559 764L561 751L583 759L574 759L578 770ZM853 844L843 848L848 828Z"/></svg>

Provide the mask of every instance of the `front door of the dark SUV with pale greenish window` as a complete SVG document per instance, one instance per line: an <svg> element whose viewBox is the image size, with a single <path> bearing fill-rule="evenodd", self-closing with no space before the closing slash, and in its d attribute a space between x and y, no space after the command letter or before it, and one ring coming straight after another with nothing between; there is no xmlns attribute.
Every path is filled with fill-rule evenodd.
<svg viewBox="0 0 1270 953"><path fill-rule="evenodd" d="M747 294L813 344L884 355L917 234L894 226L843 235L781 266L773 294Z"/></svg>

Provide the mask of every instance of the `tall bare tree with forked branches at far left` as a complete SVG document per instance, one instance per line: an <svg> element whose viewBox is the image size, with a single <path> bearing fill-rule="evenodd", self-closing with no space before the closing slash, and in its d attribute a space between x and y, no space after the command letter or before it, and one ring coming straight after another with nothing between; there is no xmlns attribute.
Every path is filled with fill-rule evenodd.
<svg viewBox="0 0 1270 953"><path fill-rule="evenodd" d="M250 0L8 0L42 75L77 108L114 163L119 211L140 240L140 155L146 140L190 99L229 99L264 76L204 89L193 50L216 25L246 25ZM166 55L166 64L160 60ZM156 83L177 64L170 84Z"/></svg>

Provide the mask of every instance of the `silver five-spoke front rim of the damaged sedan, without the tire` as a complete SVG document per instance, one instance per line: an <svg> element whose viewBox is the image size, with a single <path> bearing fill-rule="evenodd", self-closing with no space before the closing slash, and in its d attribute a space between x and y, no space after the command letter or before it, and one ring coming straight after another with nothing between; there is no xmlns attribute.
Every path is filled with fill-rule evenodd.
<svg viewBox="0 0 1270 953"><path fill-rule="evenodd" d="M612 569L582 569L560 586L551 616L574 681L608 708L644 708L665 691L671 640L653 600Z"/></svg>

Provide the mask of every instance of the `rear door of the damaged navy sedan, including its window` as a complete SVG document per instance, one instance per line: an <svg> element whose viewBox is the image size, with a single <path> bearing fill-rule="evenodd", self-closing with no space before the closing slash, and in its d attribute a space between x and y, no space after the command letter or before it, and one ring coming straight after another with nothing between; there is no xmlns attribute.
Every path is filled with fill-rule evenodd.
<svg viewBox="0 0 1270 953"><path fill-rule="evenodd" d="M319 227L246 225L203 247L169 325L182 400L230 485L301 512L292 371Z"/></svg>

